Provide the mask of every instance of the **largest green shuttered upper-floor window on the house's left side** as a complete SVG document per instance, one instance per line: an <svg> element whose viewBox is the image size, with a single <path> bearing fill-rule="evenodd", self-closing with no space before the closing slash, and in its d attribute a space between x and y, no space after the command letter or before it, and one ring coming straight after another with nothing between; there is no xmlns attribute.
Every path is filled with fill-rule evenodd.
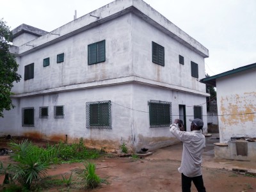
<svg viewBox="0 0 256 192"><path fill-rule="evenodd" d="M106 60L105 40L88 45L88 65Z"/></svg>

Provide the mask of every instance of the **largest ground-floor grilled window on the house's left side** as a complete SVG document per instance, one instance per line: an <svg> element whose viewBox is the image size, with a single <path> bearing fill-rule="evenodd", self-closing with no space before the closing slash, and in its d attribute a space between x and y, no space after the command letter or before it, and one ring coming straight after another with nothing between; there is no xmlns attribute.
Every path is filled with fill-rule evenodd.
<svg viewBox="0 0 256 192"><path fill-rule="evenodd" d="M86 128L111 129L111 101L86 102Z"/></svg>

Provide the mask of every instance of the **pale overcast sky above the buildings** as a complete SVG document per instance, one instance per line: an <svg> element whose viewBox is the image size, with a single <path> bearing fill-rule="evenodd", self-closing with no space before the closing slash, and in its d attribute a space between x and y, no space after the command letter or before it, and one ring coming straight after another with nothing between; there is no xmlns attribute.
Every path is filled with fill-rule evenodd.
<svg viewBox="0 0 256 192"><path fill-rule="evenodd" d="M0 0L11 29L28 24L52 31L113 0ZM125 1L125 0L123 0ZM256 63L256 0L144 0L209 49L210 76Z"/></svg>

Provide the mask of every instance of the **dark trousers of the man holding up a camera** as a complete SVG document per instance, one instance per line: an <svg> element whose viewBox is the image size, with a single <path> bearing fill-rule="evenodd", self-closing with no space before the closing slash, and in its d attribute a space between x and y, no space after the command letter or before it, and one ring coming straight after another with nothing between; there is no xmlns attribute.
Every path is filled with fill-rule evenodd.
<svg viewBox="0 0 256 192"><path fill-rule="evenodd" d="M183 173L181 173L182 192L190 192L191 181L193 181L193 183L195 184L198 192L205 192L202 175L197 177L187 177L186 175L183 175Z"/></svg>

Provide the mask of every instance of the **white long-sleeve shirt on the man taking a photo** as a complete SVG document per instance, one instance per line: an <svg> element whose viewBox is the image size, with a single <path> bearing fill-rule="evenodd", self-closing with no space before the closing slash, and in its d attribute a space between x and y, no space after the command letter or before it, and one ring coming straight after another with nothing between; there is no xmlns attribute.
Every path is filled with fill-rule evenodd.
<svg viewBox="0 0 256 192"><path fill-rule="evenodd" d="M179 131L176 124L170 125L170 132L180 141L183 142L183 151L180 173L187 177L196 177L202 175L201 163L202 153L205 148L205 136L201 131Z"/></svg>

